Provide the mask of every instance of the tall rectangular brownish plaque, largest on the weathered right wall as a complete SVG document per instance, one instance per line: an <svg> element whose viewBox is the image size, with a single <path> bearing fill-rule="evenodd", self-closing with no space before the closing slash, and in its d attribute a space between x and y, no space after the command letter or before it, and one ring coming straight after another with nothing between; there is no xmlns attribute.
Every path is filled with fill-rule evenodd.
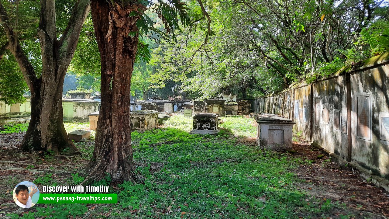
<svg viewBox="0 0 389 219"><path fill-rule="evenodd" d="M370 97L357 97L357 136L370 140Z"/></svg>

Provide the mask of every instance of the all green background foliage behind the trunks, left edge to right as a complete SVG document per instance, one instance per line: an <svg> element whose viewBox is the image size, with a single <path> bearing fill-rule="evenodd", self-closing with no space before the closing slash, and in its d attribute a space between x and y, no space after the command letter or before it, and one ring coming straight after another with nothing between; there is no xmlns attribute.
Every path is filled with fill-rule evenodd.
<svg viewBox="0 0 389 219"><path fill-rule="evenodd" d="M71 9L70 3L56 4L59 9ZM37 22L28 20L38 15L26 8L31 4L35 3L21 1L19 5L18 21L23 25L18 34L39 69L40 48L32 40ZM388 5L382 0L192 0L178 8L163 2L155 5L159 4L137 23L140 41L131 82L131 95L137 99L174 98L183 91L193 99L212 98L224 91L238 93L240 98L258 97L297 81L329 76L344 65L389 50ZM58 31L65 27L66 20L61 18L66 13L58 10ZM3 35L0 48L5 43ZM26 86L19 80L12 55L7 49L2 53L0 86L5 89L0 95L20 102ZM77 77L76 87L100 90L100 55L90 17L69 69Z"/></svg>

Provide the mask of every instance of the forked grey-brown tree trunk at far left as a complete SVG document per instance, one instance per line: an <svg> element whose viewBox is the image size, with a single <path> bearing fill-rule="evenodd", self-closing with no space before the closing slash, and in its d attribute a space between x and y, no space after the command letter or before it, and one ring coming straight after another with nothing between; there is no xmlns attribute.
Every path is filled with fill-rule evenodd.
<svg viewBox="0 0 389 219"><path fill-rule="evenodd" d="M31 92L31 120L19 147L27 152L52 150L58 154L65 147L76 149L63 126L62 88L82 25L89 12L89 0L78 0L75 3L68 25L59 40L55 10L54 0L40 1L38 37L42 50L42 74L38 77L0 2L0 26L4 28L9 50L16 58Z"/></svg>

